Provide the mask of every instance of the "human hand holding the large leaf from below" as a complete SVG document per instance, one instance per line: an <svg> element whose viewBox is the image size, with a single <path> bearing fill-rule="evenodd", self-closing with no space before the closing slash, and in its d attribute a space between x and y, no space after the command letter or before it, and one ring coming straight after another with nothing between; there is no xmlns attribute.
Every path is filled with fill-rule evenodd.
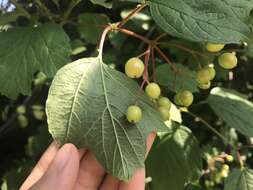
<svg viewBox="0 0 253 190"><path fill-rule="evenodd" d="M147 150L155 134L147 139ZM77 150L72 144L53 142L43 154L20 190L144 190L145 169L139 169L129 182L106 173L88 150Z"/></svg>

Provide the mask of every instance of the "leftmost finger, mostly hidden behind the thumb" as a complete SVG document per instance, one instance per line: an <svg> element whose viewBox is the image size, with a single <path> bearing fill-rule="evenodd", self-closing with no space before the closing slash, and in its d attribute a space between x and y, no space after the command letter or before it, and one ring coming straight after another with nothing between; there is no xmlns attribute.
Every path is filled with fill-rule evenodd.
<svg viewBox="0 0 253 190"><path fill-rule="evenodd" d="M47 148L46 152L42 155L39 162L36 164L31 174L27 177L20 190L29 189L34 183L36 183L48 169L52 160L54 159L59 145L56 142L52 142Z"/></svg>

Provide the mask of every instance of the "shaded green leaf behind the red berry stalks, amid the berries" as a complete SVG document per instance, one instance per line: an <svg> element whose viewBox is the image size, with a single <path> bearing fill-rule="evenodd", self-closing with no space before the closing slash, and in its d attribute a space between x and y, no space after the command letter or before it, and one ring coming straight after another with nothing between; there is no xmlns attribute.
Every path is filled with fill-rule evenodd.
<svg viewBox="0 0 253 190"><path fill-rule="evenodd" d="M175 72L167 64L159 66L157 68L158 83L173 92L178 92L182 89L198 92L199 89L195 80L196 72L181 64L176 64L176 67L179 72Z"/></svg>

